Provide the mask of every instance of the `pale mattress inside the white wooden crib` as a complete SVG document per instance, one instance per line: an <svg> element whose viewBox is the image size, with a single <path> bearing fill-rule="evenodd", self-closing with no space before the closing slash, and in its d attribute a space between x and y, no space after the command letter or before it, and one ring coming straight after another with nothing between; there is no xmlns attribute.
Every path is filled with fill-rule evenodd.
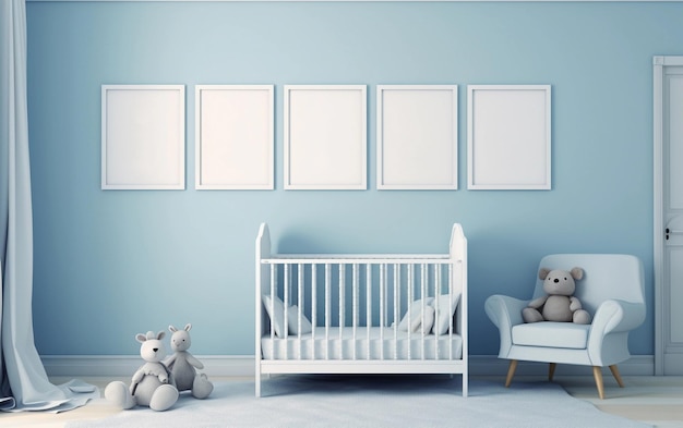
<svg viewBox="0 0 683 428"><path fill-rule="evenodd" d="M288 338L261 338L264 359L439 359L463 357L463 338L458 334L422 337L393 328L316 327L311 333Z"/></svg>

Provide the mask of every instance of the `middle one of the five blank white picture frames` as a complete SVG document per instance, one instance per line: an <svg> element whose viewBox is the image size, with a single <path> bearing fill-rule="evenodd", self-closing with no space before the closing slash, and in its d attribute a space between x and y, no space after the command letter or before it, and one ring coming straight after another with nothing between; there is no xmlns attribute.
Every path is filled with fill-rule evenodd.
<svg viewBox="0 0 683 428"><path fill-rule="evenodd" d="M367 189L367 86L284 91L285 189Z"/></svg>

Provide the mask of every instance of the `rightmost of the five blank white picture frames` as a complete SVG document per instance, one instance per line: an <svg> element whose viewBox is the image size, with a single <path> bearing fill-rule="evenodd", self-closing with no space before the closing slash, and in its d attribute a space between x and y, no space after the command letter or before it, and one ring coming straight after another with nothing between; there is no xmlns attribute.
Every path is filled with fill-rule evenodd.
<svg viewBox="0 0 683 428"><path fill-rule="evenodd" d="M467 87L469 189L550 189L550 85Z"/></svg>

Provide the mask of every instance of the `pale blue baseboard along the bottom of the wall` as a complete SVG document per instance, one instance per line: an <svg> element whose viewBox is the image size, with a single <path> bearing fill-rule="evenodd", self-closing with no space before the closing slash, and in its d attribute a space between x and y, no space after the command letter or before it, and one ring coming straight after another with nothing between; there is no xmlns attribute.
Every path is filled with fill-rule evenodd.
<svg viewBox="0 0 683 428"><path fill-rule="evenodd" d="M253 355L195 355L204 364L201 370L215 377L252 377L254 376ZM128 377L142 365L137 355L44 355L45 370L49 376L63 377ZM492 355L470 355L469 374L471 376L505 376L508 360ZM654 376L655 357L652 355L635 355L619 365L623 376ZM518 376L546 376L548 365L541 363L519 362ZM590 367L558 365L556 376L575 375L592 376Z"/></svg>

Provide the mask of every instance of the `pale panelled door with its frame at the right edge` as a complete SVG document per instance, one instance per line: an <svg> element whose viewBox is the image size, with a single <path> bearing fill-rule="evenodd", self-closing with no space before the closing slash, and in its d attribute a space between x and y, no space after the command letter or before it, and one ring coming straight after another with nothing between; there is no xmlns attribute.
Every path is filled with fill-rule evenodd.
<svg viewBox="0 0 683 428"><path fill-rule="evenodd" d="M683 57L655 57L655 372L683 375Z"/></svg>

